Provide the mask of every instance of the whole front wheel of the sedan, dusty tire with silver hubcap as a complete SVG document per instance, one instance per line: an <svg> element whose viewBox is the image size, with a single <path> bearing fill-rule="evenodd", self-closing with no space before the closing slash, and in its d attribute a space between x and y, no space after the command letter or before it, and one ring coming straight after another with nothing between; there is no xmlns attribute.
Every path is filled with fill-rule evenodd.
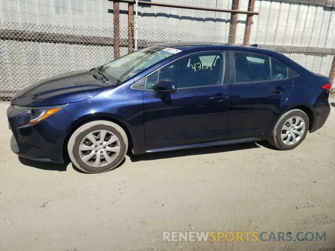
<svg viewBox="0 0 335 251"><path fill-rule="evenodd" d="M125 131L107 120L88 122L70 137L67 150L71 162L85 173L101 173L116 168L126 156Z"/></svg>

